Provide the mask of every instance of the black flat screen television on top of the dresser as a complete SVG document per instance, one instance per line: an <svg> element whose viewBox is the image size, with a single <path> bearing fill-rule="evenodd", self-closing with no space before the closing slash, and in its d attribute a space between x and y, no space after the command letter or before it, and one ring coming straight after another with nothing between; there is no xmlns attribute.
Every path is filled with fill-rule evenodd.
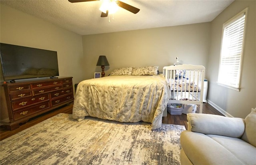
<svg viewBox="0 0 256 165"><path fill-rule="evenodd" d="M4 80L59 76L57 52L0 43Z"/></svg>

